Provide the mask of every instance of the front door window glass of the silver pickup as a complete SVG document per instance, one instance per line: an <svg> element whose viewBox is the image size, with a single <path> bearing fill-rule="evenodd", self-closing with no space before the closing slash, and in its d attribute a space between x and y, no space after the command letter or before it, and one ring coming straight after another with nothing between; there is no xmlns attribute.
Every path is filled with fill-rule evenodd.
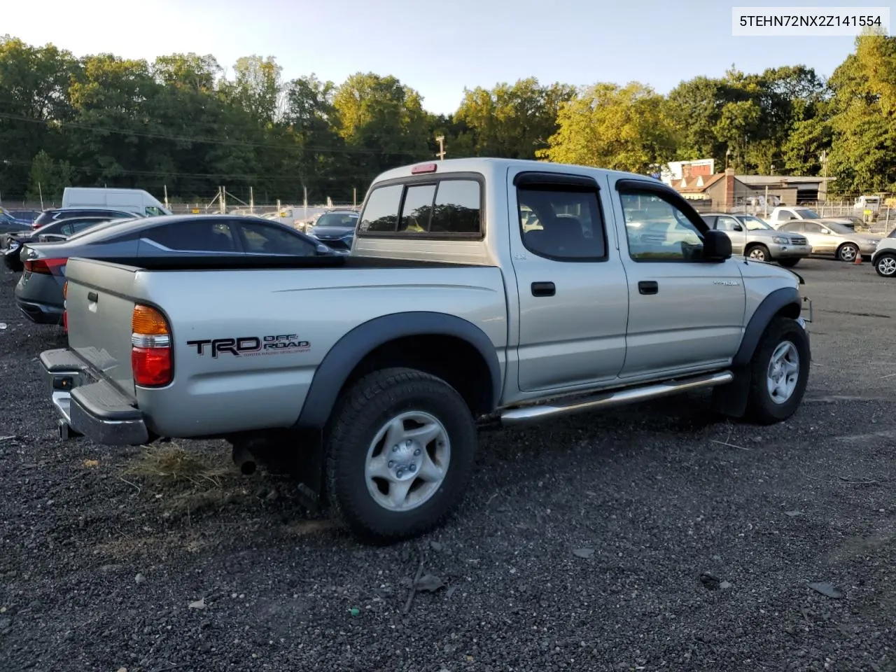
<svg viewBox="0 0 896 672"><path fill-rule="evenodd" d="M638 262L700 261L700 231L675 205L650 192L619 194L628 254Z"/></svg>

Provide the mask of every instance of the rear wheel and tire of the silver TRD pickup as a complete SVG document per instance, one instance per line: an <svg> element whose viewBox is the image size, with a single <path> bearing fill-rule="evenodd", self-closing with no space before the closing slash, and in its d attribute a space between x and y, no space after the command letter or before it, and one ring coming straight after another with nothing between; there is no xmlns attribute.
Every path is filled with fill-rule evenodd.
<svg viewBox="0 0 896 672"><path fill-rule="evenodd" d="M420 423L418 429L431 430L426 444L408 438ZM325 436L333 513L359 538L380 543L433 530L454 511L470 481L477 444L476 423L461 395L442 379L409 368L383 369L352 385L337 402ZM389 460L393 453L396 459Z"/></svg>

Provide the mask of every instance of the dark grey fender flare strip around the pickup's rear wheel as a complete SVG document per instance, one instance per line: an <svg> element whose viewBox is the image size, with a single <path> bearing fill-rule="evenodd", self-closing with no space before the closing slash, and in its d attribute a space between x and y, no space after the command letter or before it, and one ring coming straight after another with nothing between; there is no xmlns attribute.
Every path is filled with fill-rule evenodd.
<svg viewBox="0 0 896 672"><path fill-rule="evenodd" d="M501 398L501 366L492 341L478 326L452 314L416 311L375 317L346 333L330 349L314 372L311 386L296 421L297 428L326 424L342 385L358 363L390 340L408 336L453 336L475 348L488 366L494 409Z"/></svg>

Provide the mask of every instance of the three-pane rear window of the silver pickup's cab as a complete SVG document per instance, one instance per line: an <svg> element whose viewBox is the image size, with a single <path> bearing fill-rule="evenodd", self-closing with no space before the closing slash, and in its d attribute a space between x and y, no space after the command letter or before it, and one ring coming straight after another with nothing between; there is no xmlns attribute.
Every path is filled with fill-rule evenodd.
<svg viewBox="0 0 896 672"><path fill-rule="evenodd" d="M362 237L482 237L482 187L472 178L376 186L367 196Z"/></svg>

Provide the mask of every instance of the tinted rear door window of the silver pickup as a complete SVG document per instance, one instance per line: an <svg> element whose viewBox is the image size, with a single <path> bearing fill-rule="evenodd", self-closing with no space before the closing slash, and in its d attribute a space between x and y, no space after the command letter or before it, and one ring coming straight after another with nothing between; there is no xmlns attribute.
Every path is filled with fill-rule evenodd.
<svg viewBox="0 0 896 672"><path fill-rule="evenodd" d="M559 186L517 189L522 244L556 261L606 261L598 194Z"/></svg>

